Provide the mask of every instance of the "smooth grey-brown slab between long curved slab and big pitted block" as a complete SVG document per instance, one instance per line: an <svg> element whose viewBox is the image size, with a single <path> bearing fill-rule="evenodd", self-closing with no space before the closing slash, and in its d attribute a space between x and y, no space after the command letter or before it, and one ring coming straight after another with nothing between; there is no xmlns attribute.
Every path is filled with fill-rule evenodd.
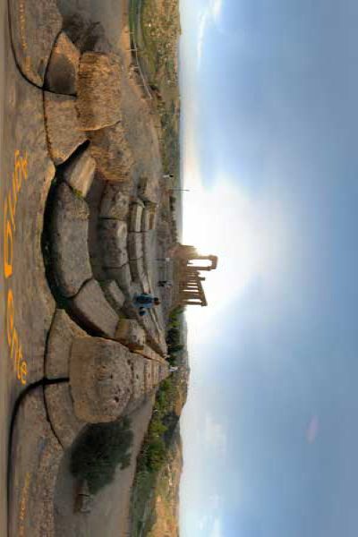
<svg viewBox="0 0 358 537"><path fill-rule="evenodd" d="M71 299L71 309L81 326L106 337L115 337L118 316L95 279L82 286L79 294Z"/></svg>

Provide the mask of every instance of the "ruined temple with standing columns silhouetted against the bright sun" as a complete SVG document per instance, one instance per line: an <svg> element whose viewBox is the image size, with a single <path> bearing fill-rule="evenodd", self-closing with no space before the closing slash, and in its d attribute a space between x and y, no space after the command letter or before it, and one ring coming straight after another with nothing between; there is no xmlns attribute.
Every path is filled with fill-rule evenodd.
<svg viewBox="0 0 358 537"><path fill-rule="evenodd" d="M175 261L175 303L181 306L207 306L201 272L217 268L216 255L200 255L194 246L177 244Z"/></svg>

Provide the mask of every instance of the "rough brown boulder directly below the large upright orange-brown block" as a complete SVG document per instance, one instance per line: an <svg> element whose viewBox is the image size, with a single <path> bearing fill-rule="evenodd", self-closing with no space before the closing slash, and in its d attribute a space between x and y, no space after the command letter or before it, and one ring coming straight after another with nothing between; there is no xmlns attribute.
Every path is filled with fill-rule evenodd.
<svg viewBox="0 0 358 537"><path fill-rule="evenodd" d="M116 183L130 181L133 158L122 122L90 132L90 141L90 151L102 178Z"/></svg>

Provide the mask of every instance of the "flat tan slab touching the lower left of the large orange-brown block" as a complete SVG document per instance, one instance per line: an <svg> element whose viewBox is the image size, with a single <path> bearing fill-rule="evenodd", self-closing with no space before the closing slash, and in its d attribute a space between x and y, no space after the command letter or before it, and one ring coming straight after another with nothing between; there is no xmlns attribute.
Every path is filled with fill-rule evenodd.
<svg viewBox="0 0 358 537"><path fill-rule="evenodd" d="M62 164L86 141L79 128L75 98L45 91L45 120L50 156Z"/></svg>

